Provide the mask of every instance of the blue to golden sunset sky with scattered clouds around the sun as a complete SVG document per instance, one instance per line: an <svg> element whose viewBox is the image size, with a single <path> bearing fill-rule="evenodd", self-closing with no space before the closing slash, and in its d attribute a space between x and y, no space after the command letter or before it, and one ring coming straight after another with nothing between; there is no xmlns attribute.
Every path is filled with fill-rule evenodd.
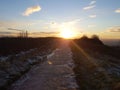
<svg viewBox="0 0 120 90"><path fill-rule="evenodd" d="M120 39L120 0L0 0L0 36L57 36L63 29Z"/></svg>

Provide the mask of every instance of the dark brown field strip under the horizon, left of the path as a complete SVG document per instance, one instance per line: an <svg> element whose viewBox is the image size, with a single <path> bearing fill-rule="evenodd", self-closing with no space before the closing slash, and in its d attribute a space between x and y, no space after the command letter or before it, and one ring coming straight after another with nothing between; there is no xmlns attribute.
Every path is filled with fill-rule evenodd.
<svg viewBox="0 0 120 90"><path fill-rule="evenodd" d="M0 56L16 54L33 48L41 51L56 47L57 38L0 38Z"/></svg>

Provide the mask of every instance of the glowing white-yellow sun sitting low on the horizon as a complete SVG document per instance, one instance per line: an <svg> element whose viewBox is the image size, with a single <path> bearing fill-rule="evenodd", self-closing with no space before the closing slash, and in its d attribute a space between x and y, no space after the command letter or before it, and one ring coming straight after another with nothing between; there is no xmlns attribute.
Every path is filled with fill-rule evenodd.
<svg viewBox="0 0 120 90"><path fill-rule="evenodd" d="M75 37L75 32L69 28L63 28L60 32L60 37L65 39L71 39Z"/></svg>

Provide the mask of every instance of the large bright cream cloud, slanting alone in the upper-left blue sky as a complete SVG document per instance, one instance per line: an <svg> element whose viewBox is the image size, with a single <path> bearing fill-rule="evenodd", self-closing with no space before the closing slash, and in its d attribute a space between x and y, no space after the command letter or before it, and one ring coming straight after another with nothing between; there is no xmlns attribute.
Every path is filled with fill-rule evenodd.
<svg viewBox="0 0 120 90"><path fill-rule="evenodd" d="M39 12L41 9L42 8L40 6L32 6L32 7L27 8L22 15L29 16L32 13Z"/></svg>

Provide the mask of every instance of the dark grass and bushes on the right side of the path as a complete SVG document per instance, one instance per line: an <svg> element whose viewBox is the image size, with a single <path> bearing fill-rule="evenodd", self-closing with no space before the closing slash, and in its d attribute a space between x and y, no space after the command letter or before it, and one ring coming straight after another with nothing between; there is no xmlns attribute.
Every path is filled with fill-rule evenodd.
<svg viewBox="0 0 120 90"><path fill-rule="evenodd" d="M120 90L119 47L104 45L98 36L83 36L70 46L80 90Z"/></svg>

